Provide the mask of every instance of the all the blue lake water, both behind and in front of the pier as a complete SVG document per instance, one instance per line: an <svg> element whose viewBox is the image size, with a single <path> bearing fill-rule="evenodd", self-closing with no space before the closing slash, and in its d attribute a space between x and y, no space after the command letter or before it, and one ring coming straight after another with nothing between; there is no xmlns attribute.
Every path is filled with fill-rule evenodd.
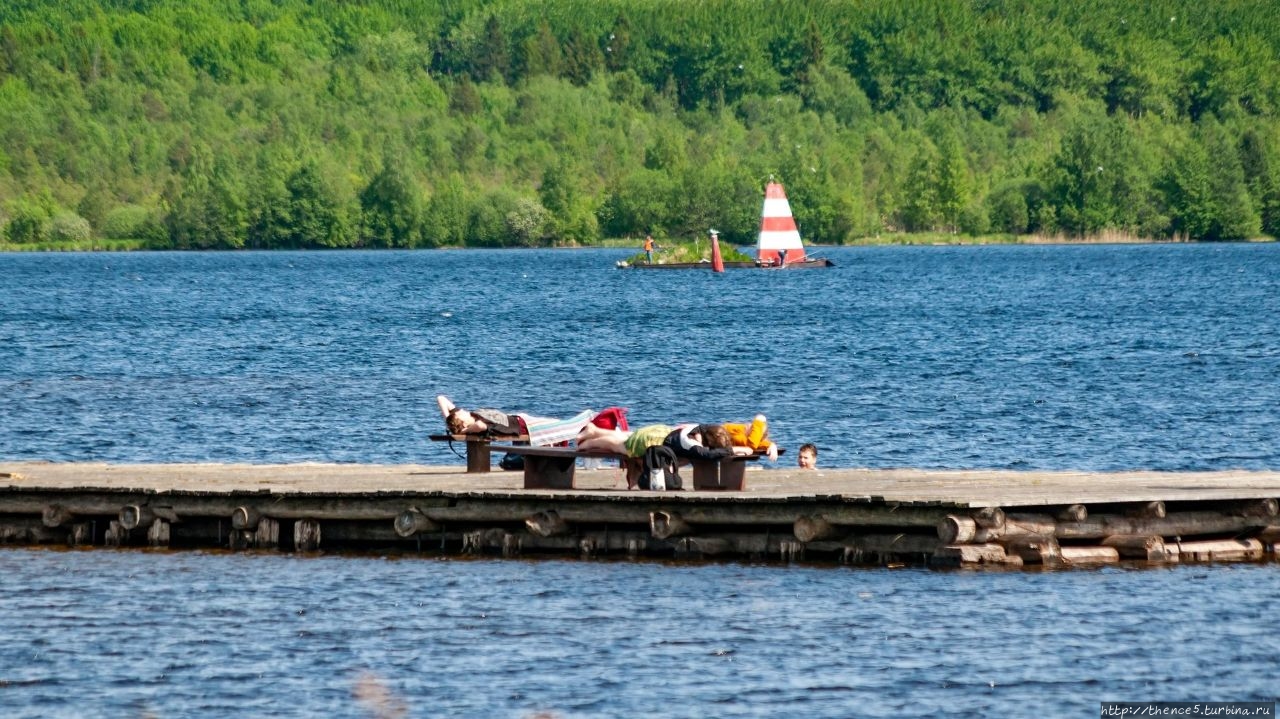
<svg viewBox="0 0 1280 719"><path fill-rule="evenodd" d="M0 255L0 459L458 463L433 398L764 412L841 467L1280 468L1280 246ZM1097 715L1275 701L1280 565L0 550L9 716ZM376 699L383 696L381 704Z"/></svg>

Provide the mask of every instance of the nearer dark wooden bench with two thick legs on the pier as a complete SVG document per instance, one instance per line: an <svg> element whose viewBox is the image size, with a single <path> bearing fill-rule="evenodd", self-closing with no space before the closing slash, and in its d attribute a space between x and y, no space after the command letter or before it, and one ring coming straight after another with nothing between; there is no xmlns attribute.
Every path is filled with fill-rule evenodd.
<svg viewBox="0 0 1280 719"><path fill-rule="evenodd" d="M573 471L579 459L617 459L627 468L627 486L635 486L635 459L613 452L591 452L567 446L490 446L489 452L508 452L525 458L525 489L573 489ZM781 454L782 450L780 449ZM741 491L746 486L746 463L764 453L726 457L719 461L695 461L694 490Z"/></svg>

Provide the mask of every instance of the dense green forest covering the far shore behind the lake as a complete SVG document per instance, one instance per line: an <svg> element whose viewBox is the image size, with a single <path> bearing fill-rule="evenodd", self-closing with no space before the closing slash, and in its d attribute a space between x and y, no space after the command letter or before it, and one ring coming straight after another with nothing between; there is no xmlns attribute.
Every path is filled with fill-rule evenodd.
<svg viewBox="0 0 1280 719"><path fill-rule="evenodd" d="M8 0L10 244L1280 235L1280 13L1202 0Z"/></svg>

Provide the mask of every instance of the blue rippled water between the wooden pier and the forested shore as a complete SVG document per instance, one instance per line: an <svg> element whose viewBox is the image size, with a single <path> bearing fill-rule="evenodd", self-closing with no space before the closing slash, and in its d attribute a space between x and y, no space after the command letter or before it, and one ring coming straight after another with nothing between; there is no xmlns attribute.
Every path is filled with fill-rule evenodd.
<svg viewBox="0 0 1280 719"><path fill-rule="evenodd" d="M1280 246L0 255L0 457L457 463L433 397L827 466L1280 467Z"/></svg>

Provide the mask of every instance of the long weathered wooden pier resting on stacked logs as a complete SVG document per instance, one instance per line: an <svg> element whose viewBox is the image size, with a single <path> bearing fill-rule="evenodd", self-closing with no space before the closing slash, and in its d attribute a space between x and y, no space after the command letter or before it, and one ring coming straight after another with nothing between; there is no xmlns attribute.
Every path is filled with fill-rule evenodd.
<svg viewBox="0 0 1280 719"><path fill-rule="evenodd" d="M576 489L419 464L0 463L0 544L858 564L1270 560L1280 472L750 470Z"/></svg>

